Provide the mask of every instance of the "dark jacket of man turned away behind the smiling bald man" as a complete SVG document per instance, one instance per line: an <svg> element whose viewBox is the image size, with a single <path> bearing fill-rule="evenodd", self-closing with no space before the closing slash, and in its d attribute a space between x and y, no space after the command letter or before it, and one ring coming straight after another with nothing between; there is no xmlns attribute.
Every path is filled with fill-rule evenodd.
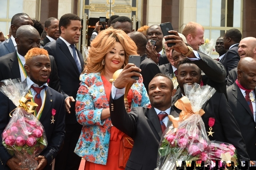
<svg viewBox="0 0 256 170"><path fill-rule="evenodd" d="M234 45L232 48L230 48L224 57L220 60L220 63L222 63L227 71L226 77L228 76L228 72L234 68L237 67L238 62L240 61L240 56L238 54L238 44ZM227 80L226 80L227 81Z"/></svg>

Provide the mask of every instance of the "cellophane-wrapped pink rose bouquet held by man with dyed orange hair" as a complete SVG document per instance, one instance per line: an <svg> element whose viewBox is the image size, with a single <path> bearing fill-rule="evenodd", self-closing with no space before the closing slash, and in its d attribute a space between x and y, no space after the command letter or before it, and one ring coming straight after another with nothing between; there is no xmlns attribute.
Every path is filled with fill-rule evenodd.
<svg viewBox="0 0 256 170"><path fill-rule="evenodd" d="M32 95L28 93L26 80L3 80L0 91L17 106L10 113L12 117L2 133L2 144L11 156L20 160L21 168L34 170L38 166L38 156L47 147L44 127L34 116L38 106L28 101Z"/></svg>

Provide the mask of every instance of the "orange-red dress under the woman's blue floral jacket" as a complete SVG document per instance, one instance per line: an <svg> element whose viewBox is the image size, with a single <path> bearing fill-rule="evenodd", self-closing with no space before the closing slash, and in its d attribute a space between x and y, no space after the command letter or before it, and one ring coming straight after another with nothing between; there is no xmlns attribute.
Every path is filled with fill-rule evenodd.
<svg viewBox="0 0 256 170"><path fill-rule="evenodd" d="M108 101L110 99L110 93L112 84L104 77L101 76L103 81L104 89L106 92L106 96ZM128 103L131 106L132 103L132 90L130 89L128 92ZM118 168L118 160L119 160L119 150L122 136L124 136L124 132L121 132L116 127L111 127L110 129L110 142L108 149L108 159L106 165L95 164L93 162L86 161L84 170L124 170L124 168Z"/></svg>

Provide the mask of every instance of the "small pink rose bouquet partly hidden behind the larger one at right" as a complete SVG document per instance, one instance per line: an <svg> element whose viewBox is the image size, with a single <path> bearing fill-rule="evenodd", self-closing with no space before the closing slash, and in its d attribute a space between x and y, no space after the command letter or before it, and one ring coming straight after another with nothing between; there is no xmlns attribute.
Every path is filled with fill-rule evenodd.
<svg viewBox="0 0 256 170"><path fill-rule="evenodd" d="M238 165L238 154L232 144L212 141L209 152L212 160L233 161L234 165Z"/></svg>

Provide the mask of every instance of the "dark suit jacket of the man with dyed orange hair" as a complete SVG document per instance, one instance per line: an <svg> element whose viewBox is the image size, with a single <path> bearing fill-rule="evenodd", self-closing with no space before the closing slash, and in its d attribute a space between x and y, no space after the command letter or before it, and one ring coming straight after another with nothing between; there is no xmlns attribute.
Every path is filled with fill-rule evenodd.
<svg viewBox="0 0 256 170"><path fill-rule="evenodd" d="M64 96L57 91L48 87L46 91L46 101L44 105L44 110L40 118L44 130L46 132L46 138L48 146L44 149L40 155L43 155L47 159L48 165L44 170L51 170L52 160L56 157L60 145L62 144L65 137L65 103ZM0 92L0 133L4 131L4 128L10 121L9 113L15 109L16 106L8 99L2 92ZM54 124L51 124L52 119L52 109L56 110L56 115L54 116ZM7 152L7 150L2 145L2 136L0 135L0 169L9 170L6 162L12 156Z"/></svg>

